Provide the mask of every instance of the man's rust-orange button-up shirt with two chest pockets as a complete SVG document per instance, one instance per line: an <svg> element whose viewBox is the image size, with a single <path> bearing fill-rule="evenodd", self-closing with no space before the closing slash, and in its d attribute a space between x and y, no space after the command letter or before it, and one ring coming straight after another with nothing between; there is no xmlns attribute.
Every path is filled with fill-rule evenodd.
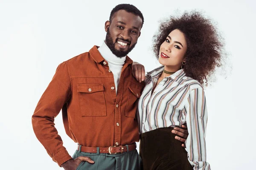
<svg viewBox="0 0 256 170"><path fill-rule="evenodd" d="M59 166L72 159L54 126L61 109L67 135L83 146L139 141L135 112L144 84L132 76L133 61L126 57L116 94L113 74L97 48L58 66L32 116L35 135Z"/></svg>

